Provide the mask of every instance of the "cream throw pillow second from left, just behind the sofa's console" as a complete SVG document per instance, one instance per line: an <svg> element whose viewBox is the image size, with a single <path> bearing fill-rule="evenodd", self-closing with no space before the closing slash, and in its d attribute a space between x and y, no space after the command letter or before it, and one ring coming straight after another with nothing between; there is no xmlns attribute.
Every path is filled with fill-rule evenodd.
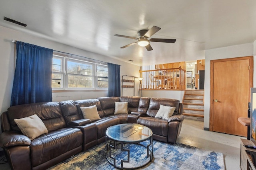
<svg viewBox="0 0 256 170"><path fill-rule="evenodd" d="M100 115L97 110L97 106L89 106L89 107L80 107L84 119L90 119L91 121L99 120Z"/></svg>

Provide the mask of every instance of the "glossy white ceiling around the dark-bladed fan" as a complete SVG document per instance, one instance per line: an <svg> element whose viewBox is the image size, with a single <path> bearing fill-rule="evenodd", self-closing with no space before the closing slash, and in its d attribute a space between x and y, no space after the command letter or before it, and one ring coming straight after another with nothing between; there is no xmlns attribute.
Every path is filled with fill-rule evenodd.
<svg viewBox="0 0 256 170"><path fill-rule="evenodd" d="M256 0L0 0L0 25L137 65L172 63L195 51L253 43ZM153 25L162 29L151 38L176 43L120 49L136 40L113 36L138 37Z"/></svg>

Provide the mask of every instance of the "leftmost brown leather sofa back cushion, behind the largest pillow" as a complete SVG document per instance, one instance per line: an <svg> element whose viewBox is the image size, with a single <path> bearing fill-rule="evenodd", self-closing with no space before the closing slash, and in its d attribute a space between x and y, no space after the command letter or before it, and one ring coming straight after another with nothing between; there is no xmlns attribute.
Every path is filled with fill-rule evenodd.
<svg viewBox="0 0 256 170"><path fill-rule="evenodd" d="M20 131L14 119L20 119L34 114L42 119L49 132L66 127L59 102L43 102L9 107L8 118L12 130Z"/></svg>

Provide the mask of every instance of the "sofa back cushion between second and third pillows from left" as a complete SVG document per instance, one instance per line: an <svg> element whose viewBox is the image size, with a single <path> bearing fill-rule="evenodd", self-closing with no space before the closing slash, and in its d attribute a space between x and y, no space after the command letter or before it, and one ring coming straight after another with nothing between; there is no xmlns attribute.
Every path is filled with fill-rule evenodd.
<svg viewBox="0 0 256 170"><path fill-rule="evenodd" d="M113 115L115 110L115 102L120 102L118 97L102 97L98 98L105 116Z"/></svg>

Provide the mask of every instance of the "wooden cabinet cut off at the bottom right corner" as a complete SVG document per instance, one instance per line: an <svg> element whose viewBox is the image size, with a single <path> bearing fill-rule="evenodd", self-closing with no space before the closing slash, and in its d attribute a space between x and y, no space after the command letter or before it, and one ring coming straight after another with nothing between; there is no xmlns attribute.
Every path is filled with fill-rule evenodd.
<svg viewBox="0 0 256 170"><path fill-rule="evenodd" d="M252 156L250 155L250 152L256 154L256 149L246 148L244 145L254 144L250 140L241 139L240 168L241 170L256 170L255 165L252 162Z"/></svg>

